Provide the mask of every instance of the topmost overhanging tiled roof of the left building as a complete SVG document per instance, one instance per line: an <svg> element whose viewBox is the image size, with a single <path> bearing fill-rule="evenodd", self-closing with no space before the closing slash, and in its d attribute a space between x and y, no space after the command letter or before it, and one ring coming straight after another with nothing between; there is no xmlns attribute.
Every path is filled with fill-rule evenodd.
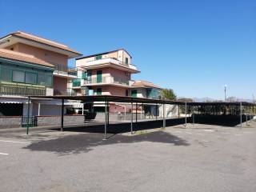
<svg viewBox="0 0 256 192"><path fill-rule="evenodd" d="M53 42L53 41L50 41L46 38L40 38L40 37L38 37L34 34L28 34L28 33L22 32L20 30L18 30L17 32L11 33L11 34L7 34L5 37L2 37L2 38L6 38L9 35L13 35L13 36L16 36L16 37L19 37L19 38L26 38L26 39L29 39L29 40L34 41L34 42L41 42L41 43L46 44L48 46L54 46L54 47L57 47L57 48L62 49L62 50L67 50L67 51L73 52L75 54L80 54L80 53L78 53L78 51L72 50L72 49L70 49L70 47L68 47L68 46L66 46L62 43ZM80 55L82 55L82 54L80 54Z"/></svg>

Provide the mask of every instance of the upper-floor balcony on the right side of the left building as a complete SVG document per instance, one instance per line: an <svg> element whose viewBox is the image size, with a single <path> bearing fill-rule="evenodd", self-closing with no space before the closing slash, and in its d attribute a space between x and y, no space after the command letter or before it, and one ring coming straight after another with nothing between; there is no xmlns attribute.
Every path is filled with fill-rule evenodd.
<svg viewBox="0 0 256 192"><path fill-rule="evenodd" d="M54 76L61 78L77 78L77 70L69 68L68 66L53 64L55 66Z"/></svg>

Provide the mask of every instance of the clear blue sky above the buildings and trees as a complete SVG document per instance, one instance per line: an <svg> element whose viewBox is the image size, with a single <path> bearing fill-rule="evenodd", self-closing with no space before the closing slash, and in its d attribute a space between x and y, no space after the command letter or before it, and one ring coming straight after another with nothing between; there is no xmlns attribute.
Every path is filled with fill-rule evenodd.
<svg viewBox="0 0 256 192"><path fill-rule="evenodd" d="M0 0L0 36L22 30L84 55L126 49L136 80L178 97L256 97L256 1ZM70 66L74 60L70 61Z"/></svg>

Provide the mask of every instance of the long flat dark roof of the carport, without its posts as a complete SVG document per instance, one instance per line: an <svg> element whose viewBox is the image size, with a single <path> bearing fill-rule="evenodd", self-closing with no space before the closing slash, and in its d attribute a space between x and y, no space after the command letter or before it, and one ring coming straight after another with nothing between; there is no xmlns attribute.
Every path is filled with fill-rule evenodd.
<svg viewBox="0 0 256 192"><path fill-rule="evenodd" d="M173 100L161 100L151 98L133 98L114 95L92 95L92 96L30 96L30 98L49 98L49 99L65 99L65 100L81 100L82 102L141 102L152 104L176 104L188 106L240 106L241 102L181 102ZM242 102L242 106L256 106L256 103Z"/></svg>

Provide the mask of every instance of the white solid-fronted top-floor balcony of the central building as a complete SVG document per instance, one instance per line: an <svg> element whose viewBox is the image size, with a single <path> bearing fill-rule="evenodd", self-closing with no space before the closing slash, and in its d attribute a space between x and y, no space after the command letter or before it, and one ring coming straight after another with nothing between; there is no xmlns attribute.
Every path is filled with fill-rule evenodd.
<svg viewBox="0 0 256 192"><path fill-rule="evenodd" d="M114 68L117 68L119 70L126 70L126 71L129 71L130 73L134 73L134 74L139 73L136 66L132 64L126 64L125 62L121 62L116 58L102 58L102 59L86 62L86 64L77 63L77 66L81 66L86 70L97 69L102 66L113 66Z"/></svg>

